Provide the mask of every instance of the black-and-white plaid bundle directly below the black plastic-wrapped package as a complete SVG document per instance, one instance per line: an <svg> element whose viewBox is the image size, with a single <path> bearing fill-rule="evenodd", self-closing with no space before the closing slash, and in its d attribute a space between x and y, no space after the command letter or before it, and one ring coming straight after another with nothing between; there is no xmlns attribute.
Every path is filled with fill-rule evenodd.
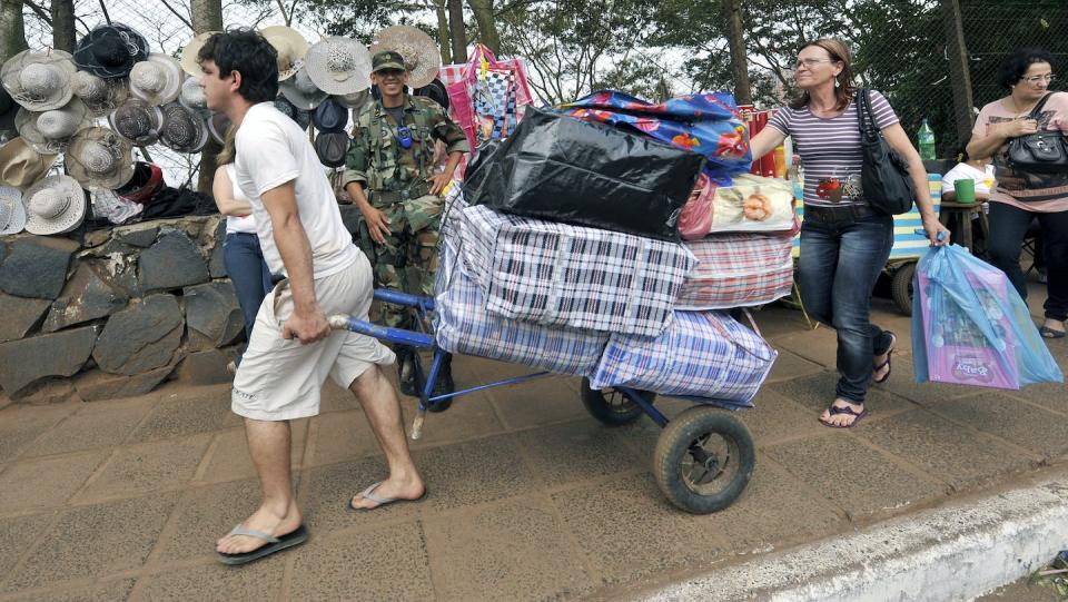
<svg viewBox="0 0 1068 602"><path fill-rule="evenodd" d="M486 309L547 326L656 336L696 259L682 245L597 228L464 210L463 265Z"/></svg>

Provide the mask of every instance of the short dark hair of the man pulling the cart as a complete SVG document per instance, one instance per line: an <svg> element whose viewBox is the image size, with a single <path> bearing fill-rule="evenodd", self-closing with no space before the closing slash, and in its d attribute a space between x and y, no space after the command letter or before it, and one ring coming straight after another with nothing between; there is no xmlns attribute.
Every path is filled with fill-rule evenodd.
<svg viewBox="0 0 1068 602"><path fill-rule="evenodd" d="M278 52L253 29L231 29L216 33L200 47L197 62L214 61L219 77L241 73L238 92L249 102L278 97Z"/></svg>

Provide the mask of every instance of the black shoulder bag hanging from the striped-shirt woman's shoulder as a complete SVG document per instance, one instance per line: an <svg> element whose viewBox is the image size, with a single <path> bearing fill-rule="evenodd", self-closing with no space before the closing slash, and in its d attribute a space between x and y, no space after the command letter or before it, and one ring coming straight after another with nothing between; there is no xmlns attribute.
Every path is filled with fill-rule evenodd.
<svg viewBox="0 0 1068 602"><path fill-rule="evenodd" d="M871 208L884 215L904 214L912 209L916 186L909 175L909 164L882 137L871 112L871 91L857 90L857 119L860 124L860 147L864 165L860 182L864 199Z"/></svg>

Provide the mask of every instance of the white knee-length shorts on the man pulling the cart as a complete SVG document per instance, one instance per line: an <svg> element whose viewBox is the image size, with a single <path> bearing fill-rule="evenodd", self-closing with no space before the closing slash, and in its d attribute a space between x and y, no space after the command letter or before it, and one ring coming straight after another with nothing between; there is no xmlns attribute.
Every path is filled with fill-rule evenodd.
<svg viewBox="0 0 1068 602"><path fill-rule="evenodd" d="M342 272L315 280L315 296L329 317L348 314L367 319L374 295L370 263L364 254ZM396 361L377 338L336 330L327 338L301 345L281 337L293 314L289 282L275 286L259 306L251 341L234 377L230 407L257 421L289 421L319 413L319 391L329 376L348 388L373 364Z"/></svg>

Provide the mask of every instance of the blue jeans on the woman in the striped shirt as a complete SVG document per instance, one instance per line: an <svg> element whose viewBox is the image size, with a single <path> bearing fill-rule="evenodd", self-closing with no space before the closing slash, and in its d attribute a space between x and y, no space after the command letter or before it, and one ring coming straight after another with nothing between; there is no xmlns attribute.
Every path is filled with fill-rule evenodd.
<svg viewBox="0 0 1068 602"><path fill-rule="evenodd" d="M872 358L890 348L890 334L869 322L871 290L893 246L893 218L872 215L856 220L801 226L798 287L804 309L838 332L835 395L864 402Z"/></svg>

